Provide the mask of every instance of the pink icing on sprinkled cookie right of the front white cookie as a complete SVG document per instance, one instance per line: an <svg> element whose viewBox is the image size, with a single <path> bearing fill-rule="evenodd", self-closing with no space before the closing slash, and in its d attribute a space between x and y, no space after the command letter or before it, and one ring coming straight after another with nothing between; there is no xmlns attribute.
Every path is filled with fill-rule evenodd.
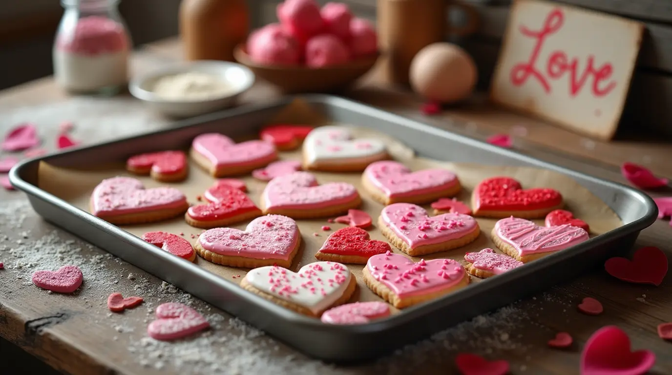
<svg viewBox="0 0 672 375"><path fill-rule="evenodd" d="M402 298L450 288L466 276L464 267L453 259L421 259L413 263L390 252L370 257L366 267L374 279Z"/></svg>

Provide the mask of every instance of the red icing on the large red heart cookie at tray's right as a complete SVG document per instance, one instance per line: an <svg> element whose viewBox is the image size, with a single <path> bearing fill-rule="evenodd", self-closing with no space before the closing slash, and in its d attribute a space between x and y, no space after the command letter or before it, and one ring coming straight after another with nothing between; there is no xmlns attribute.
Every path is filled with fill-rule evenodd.
<svg viewBox="0 0 672 375"><path fill-rule="evenodd" d="M540 210L558 206L562 195L550 188L522 190L518 181L510 177L493 177L481 181L474 190L474 208L479 210Z"/></svg>

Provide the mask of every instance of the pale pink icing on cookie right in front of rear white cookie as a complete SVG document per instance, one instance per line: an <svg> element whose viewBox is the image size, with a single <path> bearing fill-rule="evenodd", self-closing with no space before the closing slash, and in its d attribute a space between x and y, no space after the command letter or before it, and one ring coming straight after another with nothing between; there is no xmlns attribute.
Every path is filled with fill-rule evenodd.
<svg viewBox="0 0 672 375"><path fill-rule="evenodd" d="M357 189L353 185L345 182L317 185L315 176L308 172L276 177L263 190L266 208L311 210L345 204L357 197Z"/></svg>

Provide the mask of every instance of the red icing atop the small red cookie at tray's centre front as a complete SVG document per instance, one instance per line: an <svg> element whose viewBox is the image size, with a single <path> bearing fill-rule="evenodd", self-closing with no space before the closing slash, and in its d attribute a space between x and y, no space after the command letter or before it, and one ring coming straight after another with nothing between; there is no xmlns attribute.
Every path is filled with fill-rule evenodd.
<svg viewBox="0 0 672 375"><path fill-rule="evenodd" d="M372 257L390 251L388 243L369 238L369 234L364 229L348 226L332 233L320 251L327 254L358 257Z"/></svg>

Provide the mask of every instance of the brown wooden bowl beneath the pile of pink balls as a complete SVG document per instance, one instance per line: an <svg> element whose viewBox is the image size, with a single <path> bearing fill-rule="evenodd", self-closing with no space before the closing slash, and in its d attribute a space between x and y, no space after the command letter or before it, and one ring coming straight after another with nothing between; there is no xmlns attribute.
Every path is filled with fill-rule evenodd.
<svg viewBox="0 0 672 375"><path fill-rule="evenodd" d="M305 66L261 65L247 54L243 44L233 51L236 60L284 93L324 93L343 89L368 72L378 59L378 53L343 65L325 68Z"/></svg>

